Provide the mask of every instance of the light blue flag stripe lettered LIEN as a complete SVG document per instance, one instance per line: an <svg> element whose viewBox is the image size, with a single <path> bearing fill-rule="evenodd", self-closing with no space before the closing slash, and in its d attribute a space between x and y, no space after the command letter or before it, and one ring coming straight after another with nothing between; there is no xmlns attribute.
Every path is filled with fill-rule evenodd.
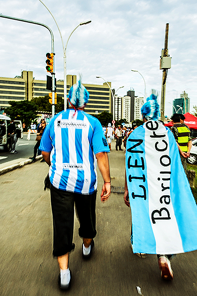
<svg viewBox="0 0 197 296"><path fill-rule="evenodd" d="M137 136L136 136L137 135ZM146 160L145 160L145 145L144 145L145 130L143 126L139 126L127 140L127 153L126 153L126 170L127 170L127 185L129 189L129 200L131 204L132 212L132 223L133 223L133 251L144 252L149 250L148 253L155 254L155 239L149 219L149 196L146 190L146 200L143 197L135 197L134 195L143 195L144 191L142 187L147 188L147 171L146 171ZM138 142L131 142L129 139L142 139L141 145L131 149L130 151L141 150L143 153L133 153L128 151L129 148L133 147ZM142 160L143 158L143 160ZM130 165L142 164L144 161L144 170L142 167L132 167L132 175L130 174ZM131 177L129 177L131 175ZM143 180L135 179L134 177L145 176L145 182ZM131 179L133 178L133 179ZM130 182L131 181L131 182ZM132 196L133 194L133 196ZM133 198L135 197L135 198ZM133 222L134 221L134 222Z"/></svg>

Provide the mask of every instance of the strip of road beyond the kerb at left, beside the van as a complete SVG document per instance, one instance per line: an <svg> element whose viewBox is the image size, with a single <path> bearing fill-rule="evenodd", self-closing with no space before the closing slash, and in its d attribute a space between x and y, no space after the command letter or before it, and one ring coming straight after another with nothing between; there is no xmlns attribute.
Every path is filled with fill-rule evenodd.
<svg viewBox="0 0 197 296"><path fill-rule="evenodd" d="M0 164L12 161L16 158L29 158L33 156L33 147L35 145L35 134L30 135L30 140L27 141L27 134L24 134L23 139L18 139L16 144L17 154L4 152L3 146L0 146Z"/></svg>

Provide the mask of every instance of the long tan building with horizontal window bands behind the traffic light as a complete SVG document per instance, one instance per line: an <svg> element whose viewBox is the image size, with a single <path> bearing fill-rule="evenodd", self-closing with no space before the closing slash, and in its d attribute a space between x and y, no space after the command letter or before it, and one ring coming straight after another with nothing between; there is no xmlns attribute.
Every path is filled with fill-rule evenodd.
<svg viewBox="0 0 197 296"><path fill-rule="evenodd" d="M70 87L76 83L76 75L67 75L67 94ZM111 82L108 82L109 86ZM89 92L90 99L86 107L89 114L98 114L103 111L111 110L111 92L107 83L86 84L83 83ZM56 81L57 96L64 96L64 80ZM32 71L22 71L21 76L15 78L0 77L0 106L9 107L9 101L31 100L35 97L44 97L49 95L50 91L46 89L46 80L36 80Z"/></svg>

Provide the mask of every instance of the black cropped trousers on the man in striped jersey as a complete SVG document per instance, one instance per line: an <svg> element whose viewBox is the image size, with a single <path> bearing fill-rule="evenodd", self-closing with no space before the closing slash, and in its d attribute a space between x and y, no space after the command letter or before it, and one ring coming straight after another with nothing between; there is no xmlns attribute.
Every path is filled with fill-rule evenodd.
<svg viewBox="0 0 197 296"><path fill-rule="evenodd" d="M53 255L63 256L73 248L74 204L80 221L78 235L84 238L96 236L96 191L90 195L84 195L57 189L52 184L50 191L53 214Z"/></svg>

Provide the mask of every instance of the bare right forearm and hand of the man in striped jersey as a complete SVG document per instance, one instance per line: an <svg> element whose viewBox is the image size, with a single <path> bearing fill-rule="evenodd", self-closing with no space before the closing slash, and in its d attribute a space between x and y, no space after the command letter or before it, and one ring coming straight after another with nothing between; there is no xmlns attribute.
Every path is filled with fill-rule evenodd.
<svg viewBox="0 0 197 296"><path fill-rule="evenodd" d="M109 160L106 152L100 152L96 154L98 167L104 180L104 184L101 192L101 201L106 201L111 193L110 172L109 172Z"/></svg>

